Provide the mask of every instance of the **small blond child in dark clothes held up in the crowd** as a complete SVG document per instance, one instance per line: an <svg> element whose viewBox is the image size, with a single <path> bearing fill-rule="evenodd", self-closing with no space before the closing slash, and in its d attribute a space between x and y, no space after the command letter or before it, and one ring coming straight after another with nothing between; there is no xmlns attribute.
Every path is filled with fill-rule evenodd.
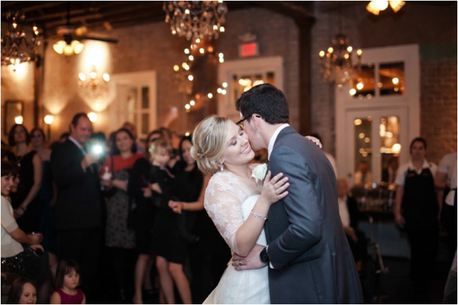
<svg viewBox="0 0 458 305"><path fill-rule="evenodd" d="M175 175L171 173L173 170L167 166L172 155L171 145L163 139L158 139L151 143L149 152L151 164L153 164L149 181L153 190L153 202L156 208L169 209L169 200L181 201L180 198L174 198L171 194L173 188L176 187ZM198 241L198 236L188 232L188 217L186 211L176 214L178 232L185 241L195 243Z"/></svg>

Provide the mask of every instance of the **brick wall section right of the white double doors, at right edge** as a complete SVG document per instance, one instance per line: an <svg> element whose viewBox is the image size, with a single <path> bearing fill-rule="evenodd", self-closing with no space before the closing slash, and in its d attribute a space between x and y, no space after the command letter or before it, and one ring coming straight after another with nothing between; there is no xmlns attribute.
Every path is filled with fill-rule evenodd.
<svg viewBox="0 0 458 305"><path fill-rule="evenodd" d="M457 62L421 63L421 137L427 159L457 151Z"/></svg>

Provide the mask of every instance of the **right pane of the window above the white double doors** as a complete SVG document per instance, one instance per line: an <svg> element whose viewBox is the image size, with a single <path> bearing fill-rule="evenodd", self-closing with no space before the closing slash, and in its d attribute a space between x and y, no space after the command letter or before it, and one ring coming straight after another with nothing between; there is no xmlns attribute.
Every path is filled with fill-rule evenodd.
<svg viewBox="0 0 458 305"><path fill-rule="evenodd" d="M380 64L379 74L380 96L405 94L404 62Z"/></svg>

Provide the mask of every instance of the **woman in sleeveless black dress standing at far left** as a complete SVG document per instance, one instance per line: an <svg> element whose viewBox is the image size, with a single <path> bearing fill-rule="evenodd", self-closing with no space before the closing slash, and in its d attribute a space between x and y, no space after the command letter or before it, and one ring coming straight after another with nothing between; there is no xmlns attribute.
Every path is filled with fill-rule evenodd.
<svg viewBox="0 0 458 305"><path fill-rule="evenodd" d="M20 170L17 192L11 194L17 224L26 233L40 229L41 207L37 196L42 185L42 159L35 150L28 148L31 138L24 125L15 124L8 134L12 152L8 161L15 162Z"/></svg>

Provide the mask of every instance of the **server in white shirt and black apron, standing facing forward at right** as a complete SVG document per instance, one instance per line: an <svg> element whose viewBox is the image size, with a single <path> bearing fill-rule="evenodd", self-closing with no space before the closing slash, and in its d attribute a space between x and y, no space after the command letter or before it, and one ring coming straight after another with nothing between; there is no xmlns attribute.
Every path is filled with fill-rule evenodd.
<svg viewBox="0 0 458 305"><path fill-rule="evenodd" d="M416 295L426 292L439 242L439 204L434 190L437 166L425 159L426 141L410 144L411 159L396 175L396 223L407 231L411 251L411 277Z"/></svg>

